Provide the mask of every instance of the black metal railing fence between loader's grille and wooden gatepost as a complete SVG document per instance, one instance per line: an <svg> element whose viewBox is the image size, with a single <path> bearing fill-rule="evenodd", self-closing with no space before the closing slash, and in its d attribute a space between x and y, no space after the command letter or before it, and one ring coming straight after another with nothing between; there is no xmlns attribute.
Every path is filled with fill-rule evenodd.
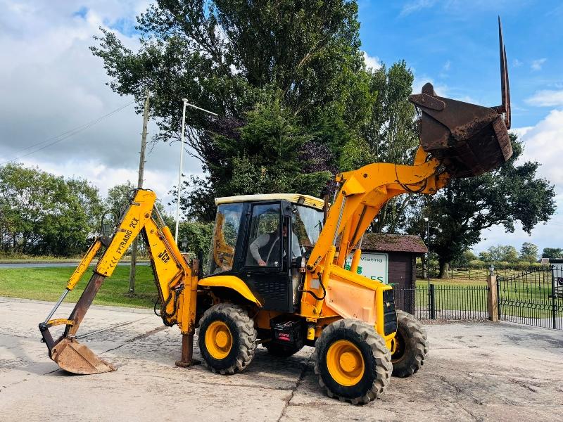
<svg viewBox="0 0 563 422"><path fill-rule="evenodd" d="M487 319L487 286L393 286L395 304L417 319Z"/></svg>

